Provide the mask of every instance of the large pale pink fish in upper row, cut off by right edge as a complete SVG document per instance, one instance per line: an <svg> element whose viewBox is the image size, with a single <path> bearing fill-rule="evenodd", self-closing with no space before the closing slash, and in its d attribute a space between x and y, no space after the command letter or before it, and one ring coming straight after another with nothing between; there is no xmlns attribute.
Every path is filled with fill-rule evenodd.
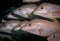
<svg viewBox="0 0 60 41"><path fill-rule="evenodd" d="M52 3L42 3L38 6L33 14L45 18L60 18L60 5Z"/></svg>

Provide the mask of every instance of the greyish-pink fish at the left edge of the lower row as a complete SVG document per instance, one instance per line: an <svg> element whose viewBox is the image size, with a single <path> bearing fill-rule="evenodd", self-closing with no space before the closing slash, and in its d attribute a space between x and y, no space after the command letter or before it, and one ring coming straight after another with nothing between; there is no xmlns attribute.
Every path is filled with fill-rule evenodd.
<svg viewBox="0 0 60 41"><path fill-rule="evenodd" d="M21 21L18 20L9 20L6 23L2 24L0 31L11 33L11 31L19 24Z"/></svg>

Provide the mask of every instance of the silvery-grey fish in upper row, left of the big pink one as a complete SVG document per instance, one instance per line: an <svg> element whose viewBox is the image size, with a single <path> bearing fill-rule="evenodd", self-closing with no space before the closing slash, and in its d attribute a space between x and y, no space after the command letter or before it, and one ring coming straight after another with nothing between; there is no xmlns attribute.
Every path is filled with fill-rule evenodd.
<svg viewBox="0 0 60 41"><path fill-rule="evenodd" d="M35 4L28 4L28 5L24 5L19 8L16 8L12 12L16 15L28 18L31 15L31 13L36 9L36 7L37 6Z"/></svg>

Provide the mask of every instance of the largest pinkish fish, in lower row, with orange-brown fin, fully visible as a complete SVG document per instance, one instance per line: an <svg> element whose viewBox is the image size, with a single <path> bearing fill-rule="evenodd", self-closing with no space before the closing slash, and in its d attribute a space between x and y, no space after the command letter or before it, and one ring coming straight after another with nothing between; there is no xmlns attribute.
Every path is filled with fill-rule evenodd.
<svg viewBox="0 0 60 41"><path fill-rule="evenodd" d="M33 19L28 24L23 26L21 30L38 36L47 37L60 31L60 28L55 22L42 19Z"/></svg>

